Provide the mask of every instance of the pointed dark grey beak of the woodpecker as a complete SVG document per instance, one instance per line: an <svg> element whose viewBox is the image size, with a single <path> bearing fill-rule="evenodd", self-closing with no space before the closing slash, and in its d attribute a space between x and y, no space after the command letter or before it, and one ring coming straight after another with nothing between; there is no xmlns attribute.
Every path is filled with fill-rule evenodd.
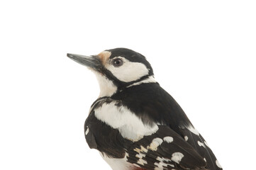
<svg viewBox="0 0 256 170"><path fill-rule="evenodd" d="M85 55L74 55L67 53L67 57L79 64L87 66L91 69L95 69L96 71L100 71L102 68L101 60L98 56L85 56Z"/></svg>

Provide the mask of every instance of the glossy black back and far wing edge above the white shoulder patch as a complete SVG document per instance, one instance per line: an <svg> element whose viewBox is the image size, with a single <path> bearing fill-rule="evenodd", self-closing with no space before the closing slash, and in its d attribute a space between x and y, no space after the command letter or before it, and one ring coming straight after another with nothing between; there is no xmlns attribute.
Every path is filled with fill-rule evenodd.
<svg viewBox="0 0 256 170"><path fill-rule="evenodd" d="M170 128L168 132L176 132L187 145L193 147L195 152L206 160L208 169L222 169L204 138L194 129L182 108L159 84L131 86L111 98L121 100L123 105L130 108L130 111L133 111L143 123L166 125Z"/></svg>

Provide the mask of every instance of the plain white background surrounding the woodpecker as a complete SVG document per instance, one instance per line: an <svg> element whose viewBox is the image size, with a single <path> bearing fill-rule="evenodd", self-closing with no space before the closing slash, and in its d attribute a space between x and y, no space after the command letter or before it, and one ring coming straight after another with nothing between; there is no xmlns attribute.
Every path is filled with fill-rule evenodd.
<svg viewBox="0 0 256 170"><path fill-rule="evenodd" d="M252 1L1 1L0 169L110 169L84 139L99 95L66 53L145 55L223 169L255 163Z"/></svg>

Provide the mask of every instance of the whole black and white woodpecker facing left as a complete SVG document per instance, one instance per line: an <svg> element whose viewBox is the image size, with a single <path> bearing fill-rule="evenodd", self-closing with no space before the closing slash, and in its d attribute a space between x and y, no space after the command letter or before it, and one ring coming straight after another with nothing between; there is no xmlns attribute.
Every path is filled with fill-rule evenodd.
<svg viewBox="0 0 256 170"><path fill-rule="evenodd" d="M116 48L67 56L99 81L84 134L113 170L222 169L179 104L155 81L143 55Z"/></svg>

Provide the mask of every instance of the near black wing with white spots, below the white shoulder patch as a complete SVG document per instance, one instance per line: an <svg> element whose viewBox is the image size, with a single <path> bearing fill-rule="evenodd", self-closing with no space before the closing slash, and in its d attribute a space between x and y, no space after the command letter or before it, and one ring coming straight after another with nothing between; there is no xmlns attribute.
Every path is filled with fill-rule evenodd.
<svg viewBox="0 0 256 170"><path fill-rule="evenodd" d="M133 142L117 129L90 113L84 132L89 147L111 158L126 158L141 169L204 169L206 162L180 135L166 125L158 125L152 135Z"/></svg>

